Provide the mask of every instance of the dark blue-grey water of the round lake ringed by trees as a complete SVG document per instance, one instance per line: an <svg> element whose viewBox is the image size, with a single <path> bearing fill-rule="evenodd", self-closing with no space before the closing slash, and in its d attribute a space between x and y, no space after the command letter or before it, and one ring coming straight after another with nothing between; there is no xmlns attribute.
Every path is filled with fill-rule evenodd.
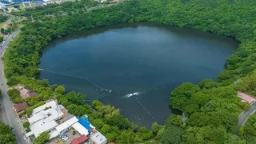
<svg viewBox="0 0 256 144"><path fill-rule="evenodd" d="M47 71L40 78L87 94L89 100L104 97L102 102L119 108L138 125L163 124L170 114L178 113L169 108L170 91L182 82L216 78L237 47L234 39L217 34L125 23L58 38L46 46L41 58L40 68L89 78L111 93L83 78ZM137 99L127 97L134 92Z"/></svg>

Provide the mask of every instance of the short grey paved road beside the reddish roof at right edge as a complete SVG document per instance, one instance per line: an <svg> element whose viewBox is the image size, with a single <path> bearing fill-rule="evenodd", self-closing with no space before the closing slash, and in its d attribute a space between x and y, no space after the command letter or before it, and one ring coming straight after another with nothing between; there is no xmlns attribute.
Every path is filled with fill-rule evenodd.
<svg viewBox="0 0 256 144"><path fill-rule="evenodd" d="M256 102L254 102L254 104L252 106L250 106L249 110L245 110L238 117L238 129L236 131L236 134L238 134L240 128L246 123L246 121L250 117L250 115L254 114L255 112L256 112Z"/></svg>

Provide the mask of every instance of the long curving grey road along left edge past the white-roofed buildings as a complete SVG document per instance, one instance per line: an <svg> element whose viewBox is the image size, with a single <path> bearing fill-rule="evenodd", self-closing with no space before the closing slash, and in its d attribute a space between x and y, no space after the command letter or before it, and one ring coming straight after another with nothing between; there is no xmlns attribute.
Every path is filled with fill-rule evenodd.
<svg viewBox="0 0 256 144"><path fill-rule="evenodd" d="M5 52L9 42L20 32L20 30L15 31L13 34L10 34L9 37L5 39L3 45L1 44L2 49L0 49L1 58L3 53ZM22 123L16 117L13 110L13 103L10 102L10 98L7 95L7 86L6 86L6 78L3 75L3 66L2 66L2 59L0 59L0 82L3 85L0 85L2 90L2 96L0 96L1 102L1 118L2 121L8 124L9 126L14 128L14 134L16 135L16 140L18 144L26 144L30 143L28 139L25 138L24 134L25 131L22 129Z"/></svg>

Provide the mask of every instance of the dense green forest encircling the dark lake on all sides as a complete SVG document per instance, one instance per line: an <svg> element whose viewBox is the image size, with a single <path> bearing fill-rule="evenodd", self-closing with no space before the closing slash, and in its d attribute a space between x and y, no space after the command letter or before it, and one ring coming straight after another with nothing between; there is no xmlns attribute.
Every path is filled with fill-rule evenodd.
<svg viewBox="0 0 256 144"><path fill-rule="evenodd" d="M64 2L14 12L28 18L26 26L10 43L4 56L8 85L18 83L38 92L38 97L19 99L32 107L57 96L58 102L71 114L88 114L109 141L126 143L255 143L256 126L253 115L238 134L238 115L248 109L237 90L255 95L256 85L256 1L254 0L130 0L113 6L81 0ZM32 17L31 17L32 16ZM33 18L33 21L31 18ZM54 38L121 22L159 22L167 26L187 27L222 34L240 42L238 50L226 60L226 69L217 81L204 79L198 85L185 82L170 93L170 106L181 110L171 115L165 126L154 123L150 130L124 118L118 109L94 101L91 106L82 100L85 94L66 94L63 86L36 80L43 47ZM40 103L39 103L40 104ZM28 114L29 111L27 110ZM24 114L26 111L24 112Z"/></svg>

